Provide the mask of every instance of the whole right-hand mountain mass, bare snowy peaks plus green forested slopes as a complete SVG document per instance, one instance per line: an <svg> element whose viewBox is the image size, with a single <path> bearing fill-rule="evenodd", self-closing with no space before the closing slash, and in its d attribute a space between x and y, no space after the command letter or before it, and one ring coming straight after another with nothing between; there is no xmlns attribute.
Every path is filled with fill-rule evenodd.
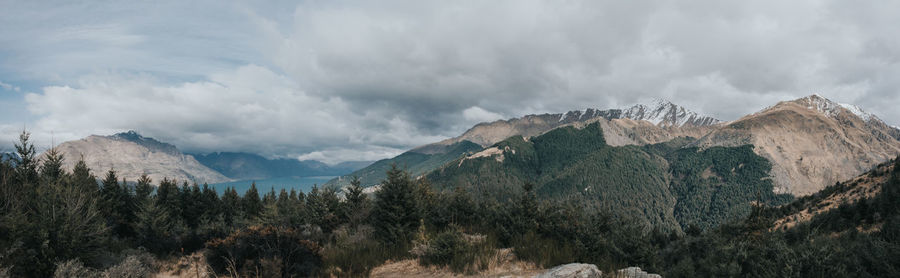
<svg viewBox="0 0 900 278"><path fill-rule="evenodd" d="M375 185L392 164L433 187L581 203L654 227L710 228L779 206L900 155L898 130L819 95L724 122L656 101L628 109L479 124L351 175ZM342 184L347 177L332 180Z"/></svg>

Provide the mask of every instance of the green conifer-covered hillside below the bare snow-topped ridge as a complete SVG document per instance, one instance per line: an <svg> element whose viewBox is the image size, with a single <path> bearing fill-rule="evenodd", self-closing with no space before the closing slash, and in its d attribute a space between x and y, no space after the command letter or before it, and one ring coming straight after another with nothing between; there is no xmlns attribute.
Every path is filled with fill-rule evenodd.
<svg viewBox="0 0 900 278"><path fill-rule="evenodd" d="M541 198L575 201L675 231L740 219L752 202L792 199L772 193L771 166L752 146L682 148L689 141L613 147L605 144L599 124L564 127L528 141L511 137L427 178L443 190L461 187L500 199L533 183Z"/></svg>

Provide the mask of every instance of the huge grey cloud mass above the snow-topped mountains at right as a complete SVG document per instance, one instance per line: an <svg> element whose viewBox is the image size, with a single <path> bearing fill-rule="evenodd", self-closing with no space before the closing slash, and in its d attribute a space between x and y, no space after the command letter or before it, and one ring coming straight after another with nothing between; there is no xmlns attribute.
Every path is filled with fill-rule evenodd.
<svg viewBox="0 0 900 278"><path fill-rule="evenodd" d="M389 1L259 21L269 59L311 92L389 103L439 133L475 106L522 115L648 97L734 119L819 92L898 119L882 104L900 102L894 18L836 1Z"/></svg>

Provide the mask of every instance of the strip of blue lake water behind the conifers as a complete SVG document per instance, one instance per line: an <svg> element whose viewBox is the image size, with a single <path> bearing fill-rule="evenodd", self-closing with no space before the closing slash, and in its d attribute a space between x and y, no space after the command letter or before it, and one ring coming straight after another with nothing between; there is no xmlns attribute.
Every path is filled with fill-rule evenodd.
<svg viewBox="0 0 900 278"><path fill-rule="evenodd" d="M321 177L283 177L283 178L272 178L272 179L262 179L262 180L241 180L241 181L232 181L232 182L223 182L210 184L209 186L216 190L219 195L222 195L225 192L225 188L234 187L237 190L238 194L241 196L244 195L248 189L250 189L250 185L253 182L256 182L256 190L259 191L259 196L268 193L273 188L275 189L275 193L281 191L284 188L287 191L291 191L291 189L295 189L297 191L302 191L304 193L308 193L312 190L313 185L318 184L320 187L322 184L328 182L333 179L333 176L321 176Z"/></svg>

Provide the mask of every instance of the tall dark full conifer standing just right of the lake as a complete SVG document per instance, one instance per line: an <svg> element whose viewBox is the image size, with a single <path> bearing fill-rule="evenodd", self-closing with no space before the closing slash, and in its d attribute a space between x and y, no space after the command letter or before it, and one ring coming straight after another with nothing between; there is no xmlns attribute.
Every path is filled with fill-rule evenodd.
<svg viewBox="0 0 900 278"><path fill-rule="evenodd" d="M391 165L376 193L372 210L374 235L389 244L407 244L419 225L418 204L409 173Z"/></svg>

